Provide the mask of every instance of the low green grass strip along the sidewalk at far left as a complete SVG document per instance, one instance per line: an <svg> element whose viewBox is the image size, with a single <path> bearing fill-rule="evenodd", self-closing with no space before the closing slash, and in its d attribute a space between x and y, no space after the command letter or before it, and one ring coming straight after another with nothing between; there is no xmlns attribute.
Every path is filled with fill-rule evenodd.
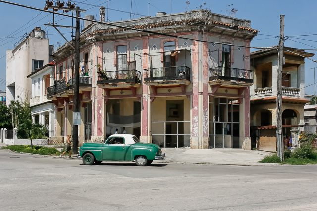
<svg viewBox="0 0 317 211"><path fill-rule="evenodd" d="M12 145L2 147L2 149L9 149L14 152L26 152L39 155L60 155L64 152L64 150L58 151L56 148L53 147L33 146L33 149L31 149L30 145Z"/></svg>

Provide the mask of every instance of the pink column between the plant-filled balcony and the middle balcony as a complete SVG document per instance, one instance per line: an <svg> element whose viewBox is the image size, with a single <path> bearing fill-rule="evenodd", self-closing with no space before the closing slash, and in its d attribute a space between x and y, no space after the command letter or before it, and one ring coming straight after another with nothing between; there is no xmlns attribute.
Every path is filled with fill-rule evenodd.
<svg viewBox="0 0 317 211"><path fill-rule="evenodd" d="M149 38L143 38L143 69L148 68L148 40ZM144 82L144 76L148 74L143 72L142 81ZM142 84L142 124L141 124L141 136L148 136L148 86Z"/></svg>

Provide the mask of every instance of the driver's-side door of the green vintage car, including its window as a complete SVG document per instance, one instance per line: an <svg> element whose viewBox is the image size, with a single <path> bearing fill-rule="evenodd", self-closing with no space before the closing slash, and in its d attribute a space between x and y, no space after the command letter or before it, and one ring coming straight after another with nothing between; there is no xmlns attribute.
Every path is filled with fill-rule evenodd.
<svg viewBox="0 0 317 211"><path fill-rule="evenodd" d="M110 137L103 147L103 160L124 161L125 145L123 137Z"/></svg>

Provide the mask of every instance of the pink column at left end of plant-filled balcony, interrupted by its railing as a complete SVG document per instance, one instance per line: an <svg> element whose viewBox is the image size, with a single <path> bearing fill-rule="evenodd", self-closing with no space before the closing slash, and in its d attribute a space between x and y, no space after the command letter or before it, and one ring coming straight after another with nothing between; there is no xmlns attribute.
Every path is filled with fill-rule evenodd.
<svg viewBox="0 0 317 211"><path fill-rule="evenodd" d="M97 42L97 61L103 65L103 42ZM97 136L103 135L103 89L96 86L97 89Z"/></svg>

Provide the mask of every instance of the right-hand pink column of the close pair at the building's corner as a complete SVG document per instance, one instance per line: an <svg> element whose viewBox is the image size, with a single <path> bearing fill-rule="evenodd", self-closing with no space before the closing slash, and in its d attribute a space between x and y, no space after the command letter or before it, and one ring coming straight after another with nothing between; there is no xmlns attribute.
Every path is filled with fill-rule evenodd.
<svg viewBox="0 0 317 211"><path fill-rule="evenodd" d="M208 34L203 34L204 41L208 41ZM208 97L208 43L203 42L203 137L209 137L208 134L208 107L209 107L209 97ZM208 147L208 145L207 145Z"/></svg>

